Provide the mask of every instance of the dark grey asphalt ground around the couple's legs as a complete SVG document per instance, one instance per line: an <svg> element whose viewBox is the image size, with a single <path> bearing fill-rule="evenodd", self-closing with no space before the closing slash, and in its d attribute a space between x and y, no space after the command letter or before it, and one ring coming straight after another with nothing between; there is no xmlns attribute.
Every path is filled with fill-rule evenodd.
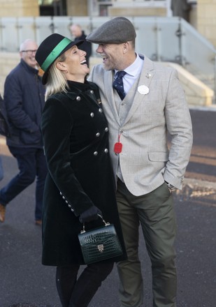
<svg viewBox="0 0 216 307"><path fill-rule="evenodd" d="M184 188L175 192L178 307L216 306L216 112L192 109L194 147ZM0 137L5 176L17 172ZM34 184L8 204L0 224L0 307L61 307L55 288L55 268L41 264L41 227L34 225ZM140 254L145 307L152 307L151 272L141 234ZM119 307L116 268L89 307Z"/></svg>

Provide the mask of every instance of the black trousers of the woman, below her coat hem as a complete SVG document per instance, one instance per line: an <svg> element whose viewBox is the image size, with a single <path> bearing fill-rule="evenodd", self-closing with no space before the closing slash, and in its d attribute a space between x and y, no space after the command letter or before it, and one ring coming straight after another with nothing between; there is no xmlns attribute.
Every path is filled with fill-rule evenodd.
<svg viewBox="0 0 216 307"><path fill-rule="evenodd" d="M89 264L78 276L79 264L57 267L56 284L62 307L86 307L113 269L113 262Z"/></svg>

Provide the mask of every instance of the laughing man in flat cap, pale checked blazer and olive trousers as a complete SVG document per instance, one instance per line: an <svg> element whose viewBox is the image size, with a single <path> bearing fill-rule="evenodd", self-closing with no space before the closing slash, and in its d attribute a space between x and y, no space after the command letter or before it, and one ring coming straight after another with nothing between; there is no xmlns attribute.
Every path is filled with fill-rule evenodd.
<svg viewBox="0 0 216 307"><path fill-rule="evenodd" d="M154 307L176 306L175 212L192 149L192 122L176 70L135 51L136 31L125 17L87 36L103 63L89 81L100 89L110 130L110 155L128 259L117 264L120 301L143 304L139 225L152 263ZM168 133L171 143L168 145Z"/></svg>

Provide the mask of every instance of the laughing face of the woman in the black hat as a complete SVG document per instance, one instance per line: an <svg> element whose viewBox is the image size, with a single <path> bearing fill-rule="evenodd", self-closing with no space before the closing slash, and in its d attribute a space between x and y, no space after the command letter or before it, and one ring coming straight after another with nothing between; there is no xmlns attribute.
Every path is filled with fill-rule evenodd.
<svg viewBox="0 0 216 307"><path fill-rule="evenodd" d="M76 82L84 82L85 76L89 73L86 63L86 52L78 49L77 46L71 47L65 52L66 59L62 62L66 73L66 79Z"/></svg>

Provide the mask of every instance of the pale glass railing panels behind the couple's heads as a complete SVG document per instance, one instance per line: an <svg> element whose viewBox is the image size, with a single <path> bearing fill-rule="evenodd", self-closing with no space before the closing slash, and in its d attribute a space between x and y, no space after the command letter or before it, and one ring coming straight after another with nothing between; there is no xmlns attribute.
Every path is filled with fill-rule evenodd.
<svg viewBox="0 0 216 307"><path fill-rule="evenodd" d="M155 61L172 61L215 84L216 50L206 38L178 17L128 17L137 38L136 50ZM69 24L78 23L85 33L111 17L1 17L0 52L18 52L20 43L33 38L39 44L51 33L70 37ZM93 44L93 57L97 45ZM215 90L215 85L212 85Z"/></svg>

